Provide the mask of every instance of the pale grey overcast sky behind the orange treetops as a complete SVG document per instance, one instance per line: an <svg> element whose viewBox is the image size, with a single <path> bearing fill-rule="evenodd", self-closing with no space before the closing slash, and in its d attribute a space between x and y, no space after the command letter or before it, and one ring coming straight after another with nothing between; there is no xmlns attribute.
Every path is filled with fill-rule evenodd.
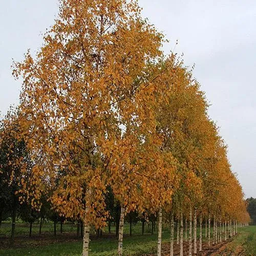
<svg viewBox="0 0 256 256"><path fill-rule="evenodd" d="M0 0L0 111L17 104L20 82L11 76L12 58L36 51L41 33L54 23L57 0ZM229 146L233 172L246 197L256 198L256 1L139 0L143 15L170 40L166 53L184 53L195 63L202 84ZM176 40L178 45L175 47Z"/></svg>

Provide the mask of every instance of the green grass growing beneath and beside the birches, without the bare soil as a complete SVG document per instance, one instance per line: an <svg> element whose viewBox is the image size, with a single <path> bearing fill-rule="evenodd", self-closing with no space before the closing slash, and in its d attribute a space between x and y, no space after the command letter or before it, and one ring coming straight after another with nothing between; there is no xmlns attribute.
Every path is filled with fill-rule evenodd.
<svg viewBox="0 0 256 256"><path fill-rule="evenodd" d="M38 224L34 224L34 233L38 233ZM44 224L44 229L42 232L47 233L49 236L53 237L53 223L49 222ZM17 224L17 234L22 236L27 236L29 225L18 223ZM57 231L59 232L59 225ZM66 223L63 225L64 232L71 232L71 235L76 234L76 225L72 223ZM145 225L145 234L141 235L141 224L138 223L133 225L133 236L129 236L130 225L124 225L124 240L123 240L123 254L124 255L141 255L143 253L155 253L157 249L157 234L151 234L151 226ZM240 230L241 234L236 237L229 245L228 250L234 251L236 248L243 244L246 245L246 250L248 254L246 255L256 255L256 226L253 227L245 227ZM5 223L0 228L0 239L1 236L6 237L9 236L10 233L10 224ZM115 233L114 226L112 227L112 233ZM47 236L48 236L47 235ZM32 235L33 236L33 235ZM162 242L169 243L169 228L168 225L163 227L162 232ZM198 229L199 236L199 229ZM74 237L74 236L73 236ZM59 235L60 241L53 241L53 244L42 246L41 244L28 245L27 247L20 248L9 248L5 250L0 249L0 255L15 255L15 256L24 256L24 255L81 255L82 251L82 241L65 241L66 237L62 237ZM205 230L203 229L203 240L205 240ZM30 241L30 240L28 240ZM63 241L63 242L62 242ZM45 241L47 244L47 241ZM118 240L116 238L102 238L102 239L93 239L90 242L90 255L117 255L117 247ZM252 254L249 254L252 252ZM232 255L232 254L230 254Z"/></svg>

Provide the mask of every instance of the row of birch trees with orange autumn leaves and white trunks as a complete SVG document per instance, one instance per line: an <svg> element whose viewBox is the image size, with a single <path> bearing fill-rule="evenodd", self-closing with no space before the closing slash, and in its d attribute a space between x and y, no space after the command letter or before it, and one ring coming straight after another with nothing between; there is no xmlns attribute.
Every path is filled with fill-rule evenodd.
<svg viewBox="0 0 256 256"><path fill-rule="evenodd" d="M83 255L90 227L113 217L109 195L120 204L119 255L132 211L158 215L158 255L162 218L179 220L181 238L189 220L189 255L192 219L194 232L205 218L215 230L248 222L205 95L163 43L136 1L62 0L36 56L13 65L23 89L18 114L3 121L2 143L15 138L4 153L8 182L34 208L46 197L60 216L81 219ZM15 152L17 143L26 150Z"/></svg>

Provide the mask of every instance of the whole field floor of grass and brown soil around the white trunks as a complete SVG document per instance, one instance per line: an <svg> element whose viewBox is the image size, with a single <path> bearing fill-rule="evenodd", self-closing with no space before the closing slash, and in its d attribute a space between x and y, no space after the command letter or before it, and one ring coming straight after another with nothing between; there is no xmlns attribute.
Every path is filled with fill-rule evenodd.
<svg viewBox="0 0 256 256"><path fill-rule="evenodd" d="M8 247L8 236L10 224L3 223L0 228L0 255L81 255L82 241L76 237L76 225L66 223L63 225L63 232L60 233L57 226L57 236L53 235L53 224L46 223L42 227L42 234L38 235L38 224L33 225L32 237L28 237L28 224L17 223L16 241L12 248ZM141 234L141 224L133 225L133 235L129 235L130 226L124 226L124 255L154 255L157 248L157 234L151 234L151 226L145 226L145 234ZM163 229L163 255L169 250L169 228ZM204 238L203 230L203 238ZM103 232L102 238L92 236L90 243L91 255L115 255L118 241L115 238L115 227L112 233ZM187 244L184 245L184 254ZM256 255L256 226L249 226L239 229L239 234L232 241L222 243L218 246L203 248L207 255ZM176 246L176 251L179 248ZM185 254L186 255L186 254Z"/></svg>

